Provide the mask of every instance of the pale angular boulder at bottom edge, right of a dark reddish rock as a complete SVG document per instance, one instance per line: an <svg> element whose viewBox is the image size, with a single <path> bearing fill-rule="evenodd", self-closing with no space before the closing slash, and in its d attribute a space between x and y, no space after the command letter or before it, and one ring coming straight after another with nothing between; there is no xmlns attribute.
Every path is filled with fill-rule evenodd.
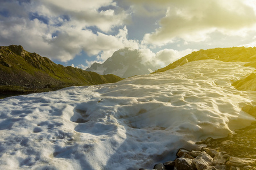
<svg viewBox="0 0 256 170"><path fill-rule="evenodd" d="M213 163L213 158L203 151L193 159L193 163L196 165L197 170L208 169Z"/></svg>

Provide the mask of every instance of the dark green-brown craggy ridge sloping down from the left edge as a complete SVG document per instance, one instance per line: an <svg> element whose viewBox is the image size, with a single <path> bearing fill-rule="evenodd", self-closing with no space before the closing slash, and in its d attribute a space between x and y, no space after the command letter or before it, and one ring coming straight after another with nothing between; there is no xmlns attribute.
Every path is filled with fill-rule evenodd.
<svg viewBox="0 0 256 170"><path fill-rule="evenodd" d="M29 53L22 46L0 46L0 91L33 92L68 86L113 83L115 75L99 75L71 66L57 65L47 57Z"/></svg>

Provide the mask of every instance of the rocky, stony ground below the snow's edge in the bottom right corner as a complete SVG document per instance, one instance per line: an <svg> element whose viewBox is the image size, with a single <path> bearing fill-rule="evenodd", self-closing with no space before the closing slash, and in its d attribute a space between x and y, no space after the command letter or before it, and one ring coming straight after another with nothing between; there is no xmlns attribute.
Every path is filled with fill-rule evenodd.
<svg viewBox="0 0 256 170"><path fill-rule="evenodd" d="M201 150L180 148L177 158L155 165L154 169L207 169L238 170L256 169L256 123L235 130L226 138L207 138L197 142ZM161 167L160 165L164 167ZM160 168L158 168L160 167ZM142 169L141 169L142 170Z"/></svg>

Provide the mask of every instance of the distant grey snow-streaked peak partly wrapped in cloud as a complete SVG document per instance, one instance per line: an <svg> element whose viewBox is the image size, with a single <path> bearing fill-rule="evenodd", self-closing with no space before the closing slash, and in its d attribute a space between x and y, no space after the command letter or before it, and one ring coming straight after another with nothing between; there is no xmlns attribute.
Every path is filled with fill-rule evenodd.
<svg viewBox="0 0 256 170"><path fill-rule="evenodd" d="M137 49L123 48L114 52L112 57L104 63L93 63L86 71L98 74L114 74L122 78L134 75L150 74L159 67L152 65L152 61L144 62L144 58Z"/></svg>

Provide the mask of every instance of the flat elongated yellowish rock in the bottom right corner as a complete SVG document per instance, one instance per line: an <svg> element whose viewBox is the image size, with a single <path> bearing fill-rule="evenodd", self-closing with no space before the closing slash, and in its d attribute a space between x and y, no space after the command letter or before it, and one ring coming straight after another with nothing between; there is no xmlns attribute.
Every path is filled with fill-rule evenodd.
<svg viewBox="0 0 256 170"><path fill-rule="evenodd" d="M234 166L234 167L244 167L246 165L251 165L255 163L256 163L256 159L237 158L237 157L231 156L228 162L226 162L226 165Z"/></svg>

